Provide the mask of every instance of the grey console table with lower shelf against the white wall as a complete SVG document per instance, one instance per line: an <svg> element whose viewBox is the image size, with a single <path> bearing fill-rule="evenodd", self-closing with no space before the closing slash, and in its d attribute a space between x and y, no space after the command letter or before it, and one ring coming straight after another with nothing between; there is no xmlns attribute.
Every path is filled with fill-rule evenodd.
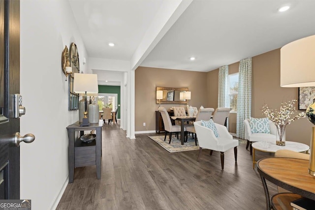
<svg viewBox="0 0 315 210"><path fill-rule="evenodd" d="M80 136L84 135L85 130L95 130L96 139L91 143L84 143ZM101 177L101 145L102 145L102 126L98 123L90 126L80 126L79 122L67 126L69 146L68 146L68 165L69 183L74 179L74 168L96 165L96 177ZM75 131L80 131L80 136L76 138Z"/></svg>

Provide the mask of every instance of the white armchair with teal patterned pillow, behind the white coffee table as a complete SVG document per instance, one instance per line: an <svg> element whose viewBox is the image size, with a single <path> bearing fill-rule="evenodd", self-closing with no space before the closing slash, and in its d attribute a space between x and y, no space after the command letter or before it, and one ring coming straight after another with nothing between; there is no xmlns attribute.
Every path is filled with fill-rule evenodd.
<svg viewBox="0 0 315 210"><path fill-rule="evenodd" d="M269 127L270 133L252 133L250 120L249 119L244 120L245 139L247 140L246 150L250 146L251 155L253 142L276 142L277 135L276 125L271 120L269 120ZM285 133L283 139L285 140Z"/></svg>

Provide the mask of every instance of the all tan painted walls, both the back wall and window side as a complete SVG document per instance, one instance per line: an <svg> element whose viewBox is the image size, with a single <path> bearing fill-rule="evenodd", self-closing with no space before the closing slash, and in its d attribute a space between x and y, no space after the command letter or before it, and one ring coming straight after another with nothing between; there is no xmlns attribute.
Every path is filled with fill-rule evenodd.
<svg viewBox="0 0 315 210"><path fill-rule="evenodd" d="M239 62L228 64L228 74L239 72ZM167 76L166 76L167 75ZM268 84L268 85L266 85ZM188 100L193 107L218 107L219 69L209 72L138 67L135 71L135 131L137 133L155 133L158 100L156 88L187 88L191 92ZM277 93L277 94L276 94ZM279 97L281 95L281 97ZM146 100L144 100L144 98ZM264 104L278 108L289 99L298 98L298 88L280 87L280 49L252 57L252 117L262 118ZM173 106L184 107L187 103L161 103L170 110ZM298 110L302 112L303 110ZM228 118L228 131L236 134L237 112L231 112ZM291 123L287 129L288 141L294 140L309 144L311 124L306 119ZM299 130L300 132L296 132Z"/></svg>

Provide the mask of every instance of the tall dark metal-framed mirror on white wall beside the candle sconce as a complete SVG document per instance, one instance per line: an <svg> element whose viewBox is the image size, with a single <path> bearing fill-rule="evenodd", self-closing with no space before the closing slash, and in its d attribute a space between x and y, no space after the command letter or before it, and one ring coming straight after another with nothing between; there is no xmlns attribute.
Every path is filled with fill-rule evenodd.
<svg viewBox="0 0 315 210"><path fill-rule="evenodd" d="M72 67L72 74L69 74L69 110L77 110L79 108L79 94L76 94L73 91L73 80L74 80L74 73L80 72L80 64L79 64L79 53L76 44L74 42L70 45L70 52L69 52L69 60L70 66Z"/></svg>

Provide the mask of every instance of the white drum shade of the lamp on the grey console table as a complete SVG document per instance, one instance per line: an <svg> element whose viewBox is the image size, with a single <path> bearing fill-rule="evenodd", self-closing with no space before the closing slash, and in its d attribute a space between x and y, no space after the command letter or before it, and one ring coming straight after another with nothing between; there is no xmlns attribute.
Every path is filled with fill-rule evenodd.
<svg viewBox="0 0 315 210"><path fill-rule="evenodd" d="M98 93L97 74L74 73L73 91L75 93Z"/></svg>

